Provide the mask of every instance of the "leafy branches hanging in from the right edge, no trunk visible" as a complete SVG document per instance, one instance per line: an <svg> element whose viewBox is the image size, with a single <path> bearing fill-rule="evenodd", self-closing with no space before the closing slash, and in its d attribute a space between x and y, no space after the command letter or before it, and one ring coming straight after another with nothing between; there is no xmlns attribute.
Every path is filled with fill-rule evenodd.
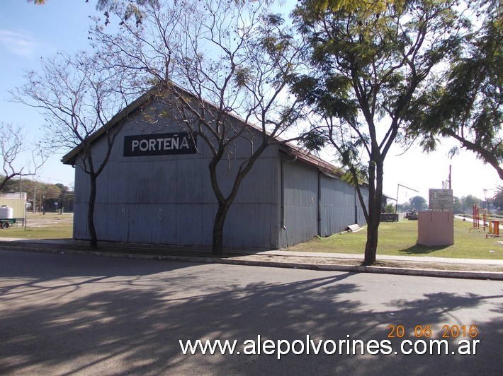
<svg viewBox="0 0 503 376"><path fill-rule="evenodd" d="M414 103L410 131L423 137L426 151L443 137L497 170L503 180L503 5L500 0L468 2L480 26L465 38L464 53L451 61L443 81L424 90ZM419 111L418 111L419 110ZM422 110L422 111L420 111ZM457 153L458 148L451 151Z"/></svg>

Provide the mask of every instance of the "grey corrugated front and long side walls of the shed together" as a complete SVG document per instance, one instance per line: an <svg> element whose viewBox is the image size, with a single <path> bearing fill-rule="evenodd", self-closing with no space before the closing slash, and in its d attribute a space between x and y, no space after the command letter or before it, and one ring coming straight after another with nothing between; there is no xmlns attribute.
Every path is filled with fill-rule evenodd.
<svg viewBox="0 0 503 376"><path fill-rule="evenodd" d="M130 119L118 135L108 165L98 177L95 225L98 240L210 246L217 201L210 186L211 153L202 140L198 154L124 157L124 137L183 131L163 119ZM236 140L219 167L228 194L239 165L259 144L250 130ZM94 143L94 160L106 150ZM89 239L89 176L77 165L74 237ZM327 236L364 218L354 187L270 146L244 178L224 230L225 247L278 248Z"/></svg>

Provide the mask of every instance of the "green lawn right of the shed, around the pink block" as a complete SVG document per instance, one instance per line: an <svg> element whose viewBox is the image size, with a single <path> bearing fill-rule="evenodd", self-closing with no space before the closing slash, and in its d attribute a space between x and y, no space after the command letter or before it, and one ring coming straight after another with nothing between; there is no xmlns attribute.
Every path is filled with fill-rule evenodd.
<svg viewBox="0 0 503 376"><path fill-rule="evenodd" d="M474 232L470 230L471 228L471 221L463 222L454 219L454 245L424 247L416 245L417 221L383 222L379 226L378 254L458 257L461 259L503 259L503 245L498 244L498 241L503 242L503 237L501 239L494 237L486 239L485 233L482 233L482 231ZM288 247L288 250L363 255L366 236L366 228L363 228L356 233L316 237L309 242Z"/></svg>

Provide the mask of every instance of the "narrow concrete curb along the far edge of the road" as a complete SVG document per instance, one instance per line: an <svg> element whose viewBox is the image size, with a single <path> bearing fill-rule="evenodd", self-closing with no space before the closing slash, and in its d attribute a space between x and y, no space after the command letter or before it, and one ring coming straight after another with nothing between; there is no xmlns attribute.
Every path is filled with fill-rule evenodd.
<svg viewBox="0 0 503 376"><path fill-rule="evenodd" d="M120 257L129 259L154 259L171 260L177 262L190 262L198 264L227 264L244 266L263 266L273 268L287 269L307 269L319 271L346 271L351 273L372 273L372 274L394 274L403 276L423 276L440 278L462 278L462 279L484 279L493 281L503 281L503 272L497 271L455 271L455 270L436 270L436 269L408 269L408 268L390 268L387 266L352 266L341 264L315 264L309 262L276 262L264 260L237 259L226 257L196 257L196 256L175 256L170 254L138 254L122 252L103 252L103 251L82 251L74 249L26 249L25 247L15 247L24 252L43 252L52 254L80 254L85 256L98 257ZM9 249L13 250L13 249Z"/></svg>

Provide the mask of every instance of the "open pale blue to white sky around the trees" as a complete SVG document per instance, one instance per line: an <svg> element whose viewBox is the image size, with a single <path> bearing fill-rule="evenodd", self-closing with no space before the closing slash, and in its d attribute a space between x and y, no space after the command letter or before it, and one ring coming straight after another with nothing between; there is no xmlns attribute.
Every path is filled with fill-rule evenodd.
<svg viewBox="0 0 503 376"><path fill-rule="evenodd" d="M9 90L26 82L26 71L40 69L40 59L49 59L57 52L73 54L89 49L89 16L101 16L95 6L95 0L47 0L44 6L28 4L26 0L0 1L0 122L23 127L27 145L43 139L44 119L37 110L12 102ZM454 196L472 194L484 199L484 189L487 197L494 196L494 189L503 185L496 170L468 151L448 158L448 151L455 145L456 142L443 140L439 150L430 154L422 152L419 146L404 153L394 145L385 160L384 193L396 199L401 184L411 189L400 187L399 203L416 195L427 199L430 188L439 189L448 180L451 165ZM36 178L73 187L74 169L61 163L63 154L52 155ZM331 155L322 156L334 162ZM20 161L28 159L26 154Z"/></svg>

